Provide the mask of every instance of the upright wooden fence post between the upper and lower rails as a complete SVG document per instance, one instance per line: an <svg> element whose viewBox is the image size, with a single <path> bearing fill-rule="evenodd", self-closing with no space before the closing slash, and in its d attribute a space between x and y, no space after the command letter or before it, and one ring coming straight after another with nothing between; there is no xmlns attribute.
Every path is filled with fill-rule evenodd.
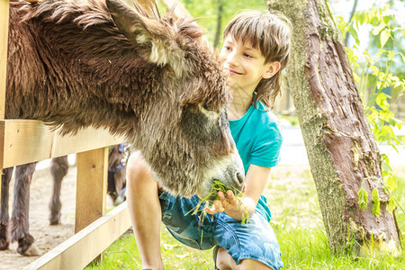
<svg viewBox="0 0 405 270"><path fill-rule="evenodd" d="M105 214L108 148L77 153L75 233Z"/></svg>

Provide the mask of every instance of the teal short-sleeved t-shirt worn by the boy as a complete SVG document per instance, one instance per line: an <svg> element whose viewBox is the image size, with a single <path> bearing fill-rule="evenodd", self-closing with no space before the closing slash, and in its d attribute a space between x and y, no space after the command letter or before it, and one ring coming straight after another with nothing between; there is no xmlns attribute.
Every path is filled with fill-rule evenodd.
<svg viewBox="0 0 405 270"><path fill-rule="evenodd" d="M229 121L230 132L242 158L245 174L250 164L272 167L278 164L283 138L278 127L278 119L266 106L258 102L252 104L242 118ZM257 209L270 222L271 212L267 199L260 196Z"/></svg>

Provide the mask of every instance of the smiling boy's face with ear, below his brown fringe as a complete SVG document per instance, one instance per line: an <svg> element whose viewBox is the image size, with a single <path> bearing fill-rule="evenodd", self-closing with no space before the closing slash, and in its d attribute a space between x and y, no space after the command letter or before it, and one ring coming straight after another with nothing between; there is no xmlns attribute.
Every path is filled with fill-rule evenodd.
<svg viewBox="0 0 405 270"><path fill-rule="evenodd" d="M220 50L220 60L228 75L232 90L253 94L262 78L269 78L278 71L273 63L265 64L265 57L250 42L242 43L228 36Z"/></svg>

